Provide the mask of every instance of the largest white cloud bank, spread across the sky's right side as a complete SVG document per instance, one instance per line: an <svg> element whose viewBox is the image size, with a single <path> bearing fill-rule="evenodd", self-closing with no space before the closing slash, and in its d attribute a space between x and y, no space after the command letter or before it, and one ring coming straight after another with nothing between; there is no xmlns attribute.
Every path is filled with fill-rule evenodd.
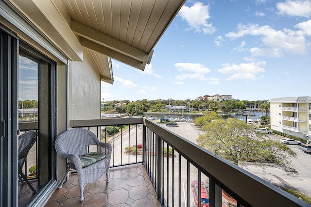
<svg viewBox="0 0 311 207"><path fill-rule="evenodd" d="M298 27L298 26L297 26ZM256 24L239 25L237 32L225 34L230 39L236 39L245 35L261 36L261 41L266 48L251 48L254 56L281 57L287 54L306 54L306 40L302 31L284 29L276 31L268 25Z"/></svg>

